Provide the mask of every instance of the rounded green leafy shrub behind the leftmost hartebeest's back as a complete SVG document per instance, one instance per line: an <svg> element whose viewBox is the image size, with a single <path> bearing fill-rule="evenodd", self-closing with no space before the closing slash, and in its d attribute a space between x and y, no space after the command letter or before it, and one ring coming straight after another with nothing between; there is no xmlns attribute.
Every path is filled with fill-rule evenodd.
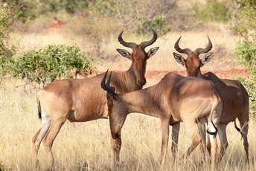
<svg viewBox="0 0 256 171"><path fill-rule="evenodd" d="M39 51L28 51L19 56L12 67L14 77L27 79L28 83L38 86L56 80L70 78L71 69L77 73L88 74L95 71L92 55L83 53L76 45L47 45Z"/></svg>

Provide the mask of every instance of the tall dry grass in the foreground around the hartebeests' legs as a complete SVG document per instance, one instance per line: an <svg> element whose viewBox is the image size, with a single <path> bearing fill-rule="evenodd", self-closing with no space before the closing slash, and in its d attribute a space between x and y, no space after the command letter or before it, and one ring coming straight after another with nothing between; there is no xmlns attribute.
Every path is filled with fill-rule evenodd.
<svg viewBox="0 0 256 171"><path fill-rule="evenodd" d="M150 84L153 84L149 81ZM25 94L19 80L1 80L0 88L0 161L12 170L33 170L32 137L41 123L36 108L35 93ZM129 114L122 130L120 170L159 170L161 158L161 123L158 118L143 114ZM170 126L171 129L171 126ZM228 149L217 170L256 170L256 122L249 121L249 164L240 134L234 123L227 128ZM182 124L179 137L179 157L188 149L191 137ZM220 144L220 143L219 143ZM173 167L170 152L165 170L209 170L210 156L200 164L199 148L185 164ZM220 149L220 148L219 148ZM53 146L56 170L110 170L109 120L86 123L66 121ZM43 144L39 148L39 162L47 170L48 159Z"/></svg>

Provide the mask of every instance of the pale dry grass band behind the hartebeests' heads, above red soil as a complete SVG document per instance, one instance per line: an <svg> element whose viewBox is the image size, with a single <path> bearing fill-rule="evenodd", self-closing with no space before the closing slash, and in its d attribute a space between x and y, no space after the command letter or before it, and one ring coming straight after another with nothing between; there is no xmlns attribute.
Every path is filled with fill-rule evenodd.
<svg viewBox="0 0 256 171"><path fill-rule="evenodd" d="M35 33L12 33L10 35L12 38L11 42L19 49L18 55L22 52L31 51L34 48L39 49L53 43L64 45L77 44L82 51L94 54L96 60L103 62L103 65L97 66L99 71L106 71L107 68L110 70L125 71L129 68L130 61L121 57L115 50L116 48L125 48L117 39L121 30L115 31L114 34L108 34L105 31L99 33L98 36L93 36L92 34L78 30L77 27L72 30L72 23L68 25L62 29L39 30L39 32ZM175 52L173 46L176 40L179 39L179 36L182 36L180 47L191 48L192 51L196 48L205 48L208 43L207 36L211 38L214 46L212 49L214 57L211 59L211 64L205 65L202 70L219 71L230 68L242 68L234 62L234 54L232 54L237 37L226 33L220 28L220 25L212 24L206 28L202 27L199 30L190 32L173 31L165 36L159 37L153 45L146 48L146 51L149 51L150 48L160 47L156 55L147 61L147 71L185 70L173 58L173 52ZM124 31L123 38L127 42L139 44L140 42L151 39L152 36L135 36L132 33ZM126 49L130 53L132 52L131 49ZM184 57L186 56L184 55Z"/></svg>

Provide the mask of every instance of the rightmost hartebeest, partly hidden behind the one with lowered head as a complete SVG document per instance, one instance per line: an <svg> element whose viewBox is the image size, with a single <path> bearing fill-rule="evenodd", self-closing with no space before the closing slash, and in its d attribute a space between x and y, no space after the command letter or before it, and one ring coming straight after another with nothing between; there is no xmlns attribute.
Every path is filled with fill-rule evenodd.
<svg viewBox="0 0 256 171"><path fill-rule="evenodd" d="M182 54L187 54L188 58L184 59L182 55L173 52L173 56L179 64L182 64L187 70L188 77L200 77L204 80L211 80L220 92L220 97L223 100L223 113L220 118L220 124L218 126L221 149L218 161L221 160L225 153L225 149L228 147L228 141L225 133L225 129L228 123L235 123L235 119L238 118L240 122L243 136L243 146L246 151L246 158L249 162L249 143L247 141L248 122L249 122L249 95L243 85L237 80L220 79L215 74L208 72L202 74L200 68L211 60L212 54L205 54L211 51L212 44L208 37L208 46L206 48L197 48L196 51L191 51L189 48L179 48L179 39L176 41L174 48L176 51ZM199 58L199 54L205 54L202 59ZM236 126L236 125L235 125ZM237 126L236 126L237 128ZM238 129L238 128L237 128ZM176 130L173 130L176 132ZM176 140L177 141L177 140ZM203 141L205 143L205 141ZM211 152L211 146L209 141L207 143L207 149Z"/></svg>

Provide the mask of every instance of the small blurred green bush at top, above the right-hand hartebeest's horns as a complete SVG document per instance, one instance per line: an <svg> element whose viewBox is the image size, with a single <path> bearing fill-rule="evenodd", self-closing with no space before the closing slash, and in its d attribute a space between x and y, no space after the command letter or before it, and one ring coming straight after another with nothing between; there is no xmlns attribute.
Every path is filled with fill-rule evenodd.
<svg viewBox="0 0 256 171"><path fill-rule="evenodd" d="M197 19L202 21L226 22L229 19L230 12L226 7L227 1L207 0L206 4L193 3L192 10Z"/></svg>

